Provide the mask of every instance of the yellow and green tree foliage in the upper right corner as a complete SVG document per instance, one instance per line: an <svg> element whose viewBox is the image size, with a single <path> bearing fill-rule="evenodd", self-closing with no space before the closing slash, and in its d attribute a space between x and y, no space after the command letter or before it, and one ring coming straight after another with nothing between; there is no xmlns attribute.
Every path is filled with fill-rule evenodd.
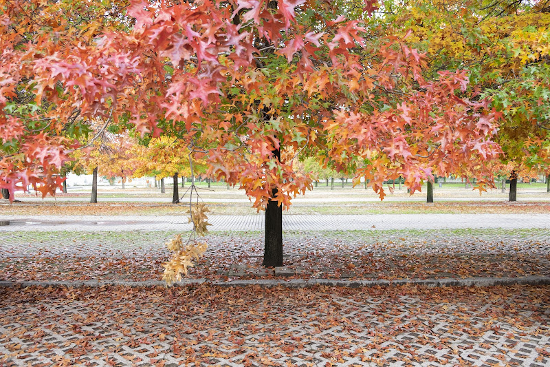
<svg viewBox="0 0 550 367"><path fill-rule="evenodd" d="M543 156L549 141L550 8L542 1L384 1L380 18L391 34L412 31L410 42L426 52L427 77L441 70L467 70L472 99L488 97L503 114L496 141L503 149L500 159L510 166L507 174L514 187L525 156ZM380 21L377 19L377 25ZM538 148L538 151L534 149ZM548 161L536 159L538 167ZM532 162L535 164L534 162ZM466 176L467 177L467 176Z"/></svg>

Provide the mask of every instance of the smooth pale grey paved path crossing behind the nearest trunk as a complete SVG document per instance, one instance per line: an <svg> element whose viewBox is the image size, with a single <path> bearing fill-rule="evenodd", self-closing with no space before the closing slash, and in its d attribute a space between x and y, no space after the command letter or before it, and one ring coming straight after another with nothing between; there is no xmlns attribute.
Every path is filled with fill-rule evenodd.
<svg viewBox="0 0 550 367"><path fill-rule="evenodd" d="M255 216L210 216L210 229L254 231L264 228ZM190 231L187 216L0 216L0 231ZM366 230L442 228L550 228L550 214L369 214L286 215L283 230Z"/></svg>

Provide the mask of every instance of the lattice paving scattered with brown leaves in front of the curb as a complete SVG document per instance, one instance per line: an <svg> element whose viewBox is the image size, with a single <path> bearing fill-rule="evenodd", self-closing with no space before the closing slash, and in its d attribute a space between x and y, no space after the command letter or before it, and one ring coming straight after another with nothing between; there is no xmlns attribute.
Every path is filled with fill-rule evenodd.
<svg viewBox="0 0 550 367"><path fill-rule="evenodd" d="M3 366L550 365L550 287L0 289Z"/></svg>

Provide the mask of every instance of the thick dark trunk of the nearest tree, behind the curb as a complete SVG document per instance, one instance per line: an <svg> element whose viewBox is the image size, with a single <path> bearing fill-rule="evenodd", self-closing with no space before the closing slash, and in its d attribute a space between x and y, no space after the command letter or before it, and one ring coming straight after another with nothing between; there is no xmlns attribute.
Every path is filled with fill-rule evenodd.
<svg viewBox="0 0 550 367"><path fill-rule="evenodd" d="M274 158L281 160L281 150L273 151ZM272 190L272 197L277 195L277 189ZM263 266L283 266L283 207L275 200L267 202L265 207L265 242L263 251Z"/></svg>

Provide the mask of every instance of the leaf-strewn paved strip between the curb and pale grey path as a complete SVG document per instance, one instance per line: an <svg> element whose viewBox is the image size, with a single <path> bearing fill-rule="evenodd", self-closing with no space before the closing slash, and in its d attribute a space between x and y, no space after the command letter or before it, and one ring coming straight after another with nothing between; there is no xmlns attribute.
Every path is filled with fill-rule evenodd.
<svg viewBox="0 0 550 367"><path fill-rule="evenodd" d="M524 233L525 232L525 233ZM164 238L172 233L117 232L91 238L77 232L40 233L28 242L0 245L0 279L160 280L170 259ZM37 234L38 236L38 234ZM24 236L22 236L24 237ZM74 240L71 238L74 237ZM37 243L41 238L41 243ZM140 240L143 238L143 240ZM208 249L188 277L344 278L350 280L436 279L443 277L525 277L550 275L550 231L476 230L315 231L285 233L285 268L263 270L260 232L211 234ZM281 269L279 269L281 270Z"/></svg>

